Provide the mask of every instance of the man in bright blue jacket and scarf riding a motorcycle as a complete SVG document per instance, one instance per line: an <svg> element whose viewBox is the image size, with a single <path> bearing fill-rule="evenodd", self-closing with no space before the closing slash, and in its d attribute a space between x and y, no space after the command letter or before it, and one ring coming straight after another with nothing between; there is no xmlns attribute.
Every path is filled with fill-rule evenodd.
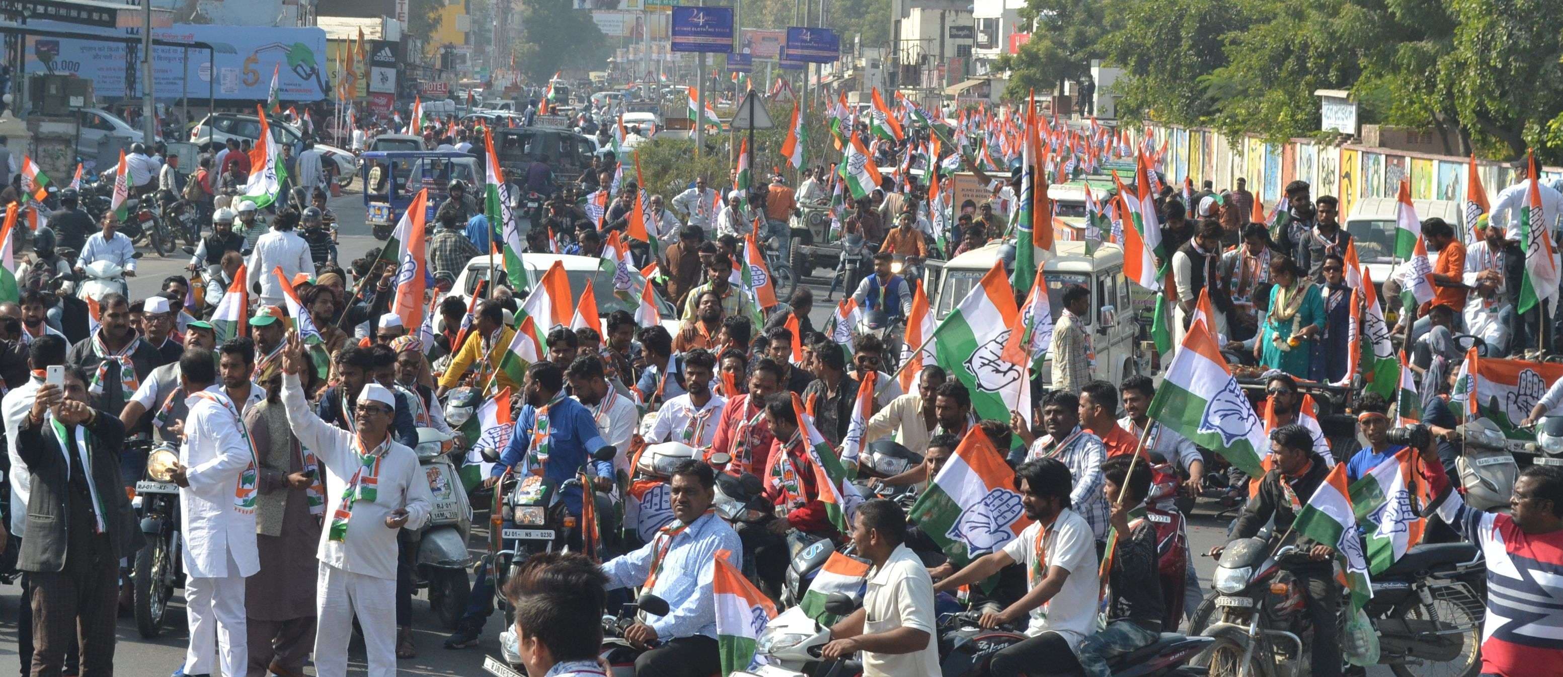
<svg viewBox="0 0 1563 677"><path fill-rule="evenodd" d="M558 486L589 466L597 488L610 489L613 461L592 460L592 453L608 442L597 432L591 411L564 396L564 369L549 361L531 364L520 381L520 392L527 405L516 419L516 433L483 485L494 486L505 469L516 467L517 472L541 474ZM580 518L581 488L570 486L560 497L564 508Z"/></svg>

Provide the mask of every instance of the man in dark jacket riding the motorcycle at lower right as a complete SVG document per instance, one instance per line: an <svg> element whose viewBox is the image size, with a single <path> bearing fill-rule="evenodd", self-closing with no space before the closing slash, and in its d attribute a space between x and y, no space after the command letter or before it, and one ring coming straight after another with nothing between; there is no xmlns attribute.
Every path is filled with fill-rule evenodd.
<svg viewBox="0 0 1563 677"><path fill-rule="evenodd" d="M1330 474L1324 457L1313 452L1313 433L1302 425L1291 424L1272 430L1271 452L1275 467L1264 474L1258 494L1249 499L1243 514L1238 516L1232 527L1233 539L1260 533L1271 516L1275 518L1277 533L1289 533L1297 511ZM1219 555L1221 547L1211 549L1210 553ZM1335 557L1333 546L1299 539L1297 552L1282 560L1282 566L1302 582L1308 614L1313 618L1313 677L1341 674L1341 647L1335 627L1341 588L1335 583L1332 557Z"/></svg>

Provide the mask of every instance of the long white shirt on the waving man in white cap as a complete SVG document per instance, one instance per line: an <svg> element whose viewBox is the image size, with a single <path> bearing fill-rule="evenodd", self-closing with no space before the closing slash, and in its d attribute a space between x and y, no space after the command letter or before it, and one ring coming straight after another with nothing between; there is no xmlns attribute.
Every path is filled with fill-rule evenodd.
<svg viewBox="0 0 1563 677"><path fill-rule="evenodd" d="M342 505L342 494L353 474L363 467L358 457L358 441L353 433L320 421L303 399L303 386L295 374L283 377L283 408L288 410L288 425L299 442L311 449L325 467L325 514ZM347 521L347 536L331 541L330 528L320 530L320 547L316 557L322 564L363 574L375 578L395 580L397 528L386 528L384 519L397 508L406 508L406 525L417 530L428 521L433 496L428 478L417 466L411 449L391 442L380 461L378 491L374 502L353 502Z"/></svg>

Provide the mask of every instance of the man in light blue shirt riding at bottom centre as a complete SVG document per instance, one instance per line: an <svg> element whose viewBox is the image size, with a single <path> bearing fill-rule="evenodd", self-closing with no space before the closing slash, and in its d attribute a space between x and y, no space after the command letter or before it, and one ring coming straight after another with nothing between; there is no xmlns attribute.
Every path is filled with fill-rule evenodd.
<svg viewBox="0 0 1563 677"><path fill-rule="evenodd" d="M650 543L602 564L608 589L644 588L667 602L667 614L647 616L624 630L636 649L636 677L706 677L721 671L716 644L716 555L742 566L738 532L711 510L716 471L688 460L669 478L674 521Z"/></svg>

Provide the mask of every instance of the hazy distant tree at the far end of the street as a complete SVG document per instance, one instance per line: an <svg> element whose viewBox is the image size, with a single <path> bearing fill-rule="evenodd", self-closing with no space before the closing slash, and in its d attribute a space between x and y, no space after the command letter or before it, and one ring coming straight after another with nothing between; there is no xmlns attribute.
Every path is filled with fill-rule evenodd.
<svg viewBox="0 0 1563 677"><path fill-rule="evenodd" d="M545 83L567 67L600 69L611 55L608 39L591 13L572 9L564 0L524 0L520 39L514 44L516 66L525 80Z"/></svg>

